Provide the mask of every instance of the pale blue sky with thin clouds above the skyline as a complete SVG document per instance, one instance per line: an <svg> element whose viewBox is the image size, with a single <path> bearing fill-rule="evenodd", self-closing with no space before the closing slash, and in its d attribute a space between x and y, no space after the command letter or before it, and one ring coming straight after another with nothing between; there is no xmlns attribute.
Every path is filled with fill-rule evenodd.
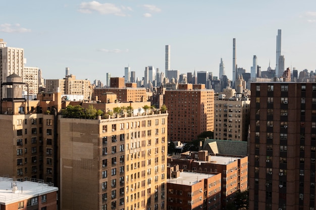
<svg viewBox="0 0 316 210"><path fill-rule="evenodd" d="M65 68L77 79L123 77L130 66L144 77L145 66L180 74L219 75L221 57L232 78L233 38L237 66L250 73L253 55L261 71L276 65L276 36L282 30L286 67L316 69L316 1L6 1L0 39L24 48L25 66L44 79L62 79Z"/></svg>

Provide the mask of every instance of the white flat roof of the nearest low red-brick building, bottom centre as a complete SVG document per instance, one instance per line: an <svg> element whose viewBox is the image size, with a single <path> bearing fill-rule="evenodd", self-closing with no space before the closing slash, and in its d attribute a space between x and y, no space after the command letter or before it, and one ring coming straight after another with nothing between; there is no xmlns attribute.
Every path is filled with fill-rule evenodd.
<svg viewBox="0 0 316 210"><path fill-rule="evenodd" d="M216 174L203 174L203 173L193 173L193 172L180 172L178 178L167 179L167 183L182 184L191 186L200 182L201 179L207 179L209 177L215 176Z"/></svg>

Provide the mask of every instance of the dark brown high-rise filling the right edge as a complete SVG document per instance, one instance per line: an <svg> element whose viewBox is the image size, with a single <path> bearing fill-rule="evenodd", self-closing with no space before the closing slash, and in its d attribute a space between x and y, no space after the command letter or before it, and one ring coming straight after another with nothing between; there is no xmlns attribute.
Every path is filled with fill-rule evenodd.
<svg viewBox="0 0 316 210"><path fill-rule="evenodd" d="M316 83L251 83L249 209L315 207Z"/></svg>

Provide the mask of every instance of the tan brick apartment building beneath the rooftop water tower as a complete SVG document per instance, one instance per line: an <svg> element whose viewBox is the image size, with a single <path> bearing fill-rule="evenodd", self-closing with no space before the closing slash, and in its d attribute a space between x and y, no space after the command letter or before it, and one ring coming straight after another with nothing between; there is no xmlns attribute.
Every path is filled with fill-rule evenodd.
<svg viewBox="0 0 316 210"><path fill-rule="evenodd" d="M2 101L0 114L0 173L31 177L57 184L57 139L54 115L61 109L61 94L40 94L40 100Z"/></svg>

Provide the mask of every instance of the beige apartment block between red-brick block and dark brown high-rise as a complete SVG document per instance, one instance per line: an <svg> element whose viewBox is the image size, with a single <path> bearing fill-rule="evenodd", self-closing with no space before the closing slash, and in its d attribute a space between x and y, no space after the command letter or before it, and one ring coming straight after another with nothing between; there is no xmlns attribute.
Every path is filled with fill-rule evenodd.
<svg viewBox="0 0 316 210"><path fill-rule="evenodd" d="M247 141L250 123L248 98L217 97L215 103L214 138L231 141Z"/></svg>

